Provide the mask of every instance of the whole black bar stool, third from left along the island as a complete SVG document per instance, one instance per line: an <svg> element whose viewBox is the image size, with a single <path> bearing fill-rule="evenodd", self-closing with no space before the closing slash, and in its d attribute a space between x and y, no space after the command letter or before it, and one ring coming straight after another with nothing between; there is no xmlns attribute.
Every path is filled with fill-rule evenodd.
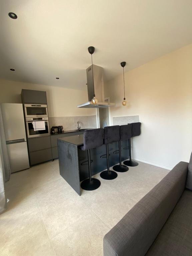
<svg viewBox="0 0 192 256"><path fill-rule="evenodd" d="M127 140L131 137L131 124L121 125L120 126L120 140L119 140L119 164L113 166L113 170L116 172L127 172L129 168L121 164L121 140Z"/></svg>

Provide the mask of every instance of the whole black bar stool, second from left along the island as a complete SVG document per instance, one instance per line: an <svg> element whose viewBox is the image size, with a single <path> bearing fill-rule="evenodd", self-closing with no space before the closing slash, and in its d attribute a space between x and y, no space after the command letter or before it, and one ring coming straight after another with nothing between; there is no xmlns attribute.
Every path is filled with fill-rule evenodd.
<svg viewBox="0 0 192 256"><path fill-rule="evenodd" d="M106 145L106 155L107 155L107 171L100 173L102 179L114 180L117 178L117 173L109 170L109 143L113 143L120 140L120 126L107 126L104 127L103 143Z"/></svg>

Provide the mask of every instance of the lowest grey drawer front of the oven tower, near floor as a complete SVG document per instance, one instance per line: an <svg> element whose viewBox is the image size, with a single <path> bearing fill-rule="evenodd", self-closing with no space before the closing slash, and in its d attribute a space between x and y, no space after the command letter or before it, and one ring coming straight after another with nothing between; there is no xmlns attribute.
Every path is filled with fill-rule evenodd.
<svg viewBox="0 0 192 256"><path fill-rule="evenodd" d="M52 160L51 148L30 152L31 165L43 163Z"/></svg>

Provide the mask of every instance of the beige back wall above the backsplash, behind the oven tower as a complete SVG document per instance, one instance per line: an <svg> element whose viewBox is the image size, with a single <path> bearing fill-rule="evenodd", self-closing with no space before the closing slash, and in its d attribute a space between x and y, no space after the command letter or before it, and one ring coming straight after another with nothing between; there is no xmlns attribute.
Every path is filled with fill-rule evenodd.
<svg viewBox="0 0 192 256"><path fill-rule="evenodd" d="M0 80L0 102L21 103L21 89L46 91L50 117L96 114L94 109L77 108L78 104L88 101L87 91L40 84Z"/></svg>

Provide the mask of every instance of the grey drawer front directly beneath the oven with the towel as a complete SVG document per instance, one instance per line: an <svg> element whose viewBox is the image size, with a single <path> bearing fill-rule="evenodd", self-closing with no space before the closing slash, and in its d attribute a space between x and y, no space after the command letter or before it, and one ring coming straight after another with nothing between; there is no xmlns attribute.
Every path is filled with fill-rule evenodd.
<svg viewBox="0 0 192 256"><path fill-rule="evenodd" d="M29 152L51 148L50 136L28 138Z"/></svg>

